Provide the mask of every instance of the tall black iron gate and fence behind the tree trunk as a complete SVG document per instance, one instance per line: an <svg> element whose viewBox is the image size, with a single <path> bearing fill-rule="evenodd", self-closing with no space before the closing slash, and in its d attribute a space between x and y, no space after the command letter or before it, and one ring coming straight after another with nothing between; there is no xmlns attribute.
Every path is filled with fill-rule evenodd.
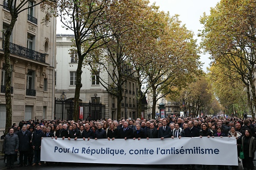
<svg viewBox="0 0 256 170"><path fill-rule="evenodd" d="M55 100L54 106L54 117L56 119L73 120L73 101ZM105 118L105 105L101 103L91 103L90 101L89 103L79 103L79 106L83 107L84 120L101 120Z"/></svg>

